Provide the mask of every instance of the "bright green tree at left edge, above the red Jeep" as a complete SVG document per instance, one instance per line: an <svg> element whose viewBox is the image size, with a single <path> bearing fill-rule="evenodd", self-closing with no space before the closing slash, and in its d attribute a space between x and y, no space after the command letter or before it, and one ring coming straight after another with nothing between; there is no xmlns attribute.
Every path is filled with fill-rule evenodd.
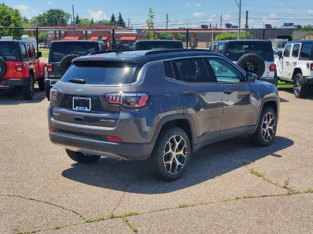
<svg viewBox="0 0 313 234"><path fill-rule="evenodd" d="M0 27L22 27L22 16L19 10L0 3ZM19 28L0 29L0 37L11 36L13 39L21 39L22 30Z"/></svg>

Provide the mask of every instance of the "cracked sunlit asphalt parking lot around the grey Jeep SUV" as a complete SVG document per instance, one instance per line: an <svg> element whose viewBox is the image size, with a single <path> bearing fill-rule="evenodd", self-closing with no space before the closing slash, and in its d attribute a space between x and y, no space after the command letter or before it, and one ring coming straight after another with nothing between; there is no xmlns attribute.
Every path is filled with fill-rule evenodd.
<svg viewBox="0 0 313 234"><path fill-rule="evenodd" d="M312 233L313 94L279 95L271 146L208 145L166 183L142 161L75 163L49 141L43 92L1 91L0 233Z"/></svg>

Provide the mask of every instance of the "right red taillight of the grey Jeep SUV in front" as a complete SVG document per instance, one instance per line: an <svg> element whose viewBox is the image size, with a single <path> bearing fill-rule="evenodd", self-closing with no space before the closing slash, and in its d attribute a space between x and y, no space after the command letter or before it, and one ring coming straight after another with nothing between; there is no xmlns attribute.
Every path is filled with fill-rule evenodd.
<svg viewBox="0 0 313 234"><path fill-rule="evenodd" d="M104 95L110 104L120 104L124 107L139 108L147 104L149 94L147 93L111 93Z"/></svg>

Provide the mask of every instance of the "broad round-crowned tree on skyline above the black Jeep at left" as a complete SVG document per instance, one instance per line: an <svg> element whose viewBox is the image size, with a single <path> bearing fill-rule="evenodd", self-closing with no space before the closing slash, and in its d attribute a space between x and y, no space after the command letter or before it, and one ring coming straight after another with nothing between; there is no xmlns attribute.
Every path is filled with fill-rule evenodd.
<svg viewBox="0 0 313 234"><path fill-rule="evenodd" d="M66 26L70 19L70 14L62 9L49 9L46 12L32 17L29 22L32 26Z"/></svg>

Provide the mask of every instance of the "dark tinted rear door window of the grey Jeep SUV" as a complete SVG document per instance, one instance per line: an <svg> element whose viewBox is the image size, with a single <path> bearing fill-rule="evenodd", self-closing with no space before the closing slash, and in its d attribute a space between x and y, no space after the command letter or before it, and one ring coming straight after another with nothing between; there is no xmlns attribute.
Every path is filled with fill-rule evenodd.
<svg viewBox="0 0 313 234"><path fill-rule="evenodd" d="M188 83L210 82L209 74L206 70L203 59L179 59L175 60L181 81Z"/></svg>

